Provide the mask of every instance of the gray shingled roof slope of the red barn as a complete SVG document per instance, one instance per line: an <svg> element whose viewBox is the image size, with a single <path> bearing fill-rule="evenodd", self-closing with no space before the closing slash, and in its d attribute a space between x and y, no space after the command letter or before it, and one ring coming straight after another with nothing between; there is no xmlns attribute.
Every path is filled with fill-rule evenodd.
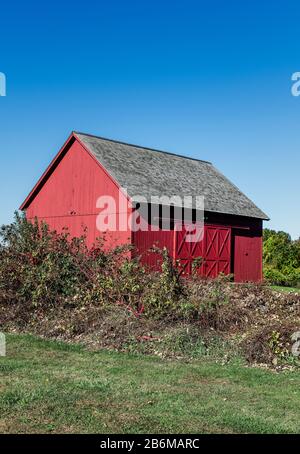
<svg viewBox="0 0 300 454"><path fill-rule="evenodd" d="M205 210L268 219L210 162L74 133L133 198L203 195Z"/></svg>

